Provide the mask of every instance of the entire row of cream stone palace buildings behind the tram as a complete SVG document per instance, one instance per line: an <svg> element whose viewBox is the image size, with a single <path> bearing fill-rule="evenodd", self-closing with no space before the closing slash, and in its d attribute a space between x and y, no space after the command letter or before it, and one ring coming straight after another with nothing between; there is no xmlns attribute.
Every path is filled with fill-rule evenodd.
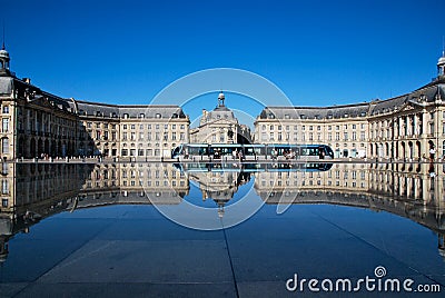
<svg viewBox="0 0 445 298"><path fill-rule="evenodd" d="M445 54L437 77L404 96L332 107L266 107L255 131L238 122L218 96L190 129L179 106L121 106L65 99L9 69L0 50L2 159L102 156L169 157L179 143L325 143L335 158L437 159L445 155Z"/></svg>

